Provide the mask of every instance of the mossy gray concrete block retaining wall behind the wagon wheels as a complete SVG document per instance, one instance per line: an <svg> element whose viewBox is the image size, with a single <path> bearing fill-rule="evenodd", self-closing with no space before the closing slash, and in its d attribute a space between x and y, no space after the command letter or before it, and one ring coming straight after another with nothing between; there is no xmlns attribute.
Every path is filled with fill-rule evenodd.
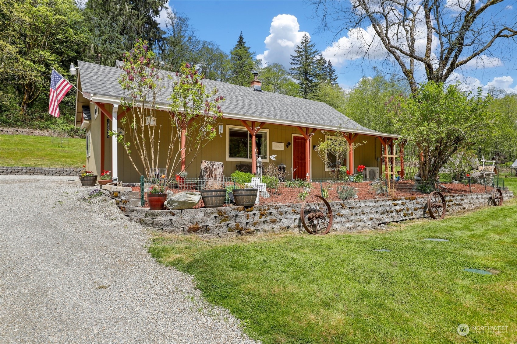
<svg viewBox="0 0 517 344"><path fill-rule="evenodd" d="M505 191L504 199L513 197ZM447 213L489 205L491 194L446 196ZM331 231L352 232L375 229L380 224L428 217L427 195L419 197L349 200L331 202ZM222 207L187 210L121 208L130 220L149 229L206 238L261 232L305 232L300 221L301 204L259 205L252 208Z"/></svg>

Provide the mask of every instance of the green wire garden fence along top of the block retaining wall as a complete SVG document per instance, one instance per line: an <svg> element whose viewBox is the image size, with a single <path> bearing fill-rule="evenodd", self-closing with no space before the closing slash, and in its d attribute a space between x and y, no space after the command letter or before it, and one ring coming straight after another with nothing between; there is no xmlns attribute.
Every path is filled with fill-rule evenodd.
<svg viewBox="0 0 517 344"><path fill-rule="evenodd" d="M373 181L343 181L332 179L313 179L306 181L301 179L280 181L278 178L262 176L255 180L239 180L224 177L220 180L206 178L181 178L165 180L162 178L141 177L140 201L141 205L146 204L146 194L152 185L162 185L163 192L183 192L225 189L225 205L233 205L231 192L234 189L257 187L260 204L296 204L301 203L312 195L321 195L328 201L351 200L351 199L376 199L387 197L407 197L429 194L432 191L440 191L444 194L465 194L465 193L489 193L494 188L505 190L504 180L495 178L468 178L458 183L440 183L439 180L432 182L401 180L394 181L390 192L385 179ZM196 207L203 207L201 201Z"/></svg>

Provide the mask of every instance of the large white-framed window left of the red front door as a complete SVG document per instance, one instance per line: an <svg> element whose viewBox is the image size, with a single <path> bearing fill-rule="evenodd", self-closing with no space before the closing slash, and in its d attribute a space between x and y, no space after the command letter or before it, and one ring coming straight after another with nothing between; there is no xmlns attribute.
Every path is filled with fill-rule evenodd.
<svg viewBox="0 0 517 344"><path fill-rule="evenodd" d="M261 129L255 135L255 145L262 161L269 161L268 129ZM226 125L226 160L251 161L251 134L245 127Z"/></svg>

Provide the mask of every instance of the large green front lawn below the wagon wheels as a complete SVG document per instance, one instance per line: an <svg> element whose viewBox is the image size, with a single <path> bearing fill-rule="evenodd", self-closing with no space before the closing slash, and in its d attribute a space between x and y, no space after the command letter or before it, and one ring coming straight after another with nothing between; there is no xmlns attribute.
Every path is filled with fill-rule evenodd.
<svg viewBox="0 0 517 344"><path fill-rule="evenodd" d="M508 201L355 234L212 241L156 234L149 251L194 275L211 303L264 343L510 343L517 341L516 229L517 203ZM392 251L373 251L381 248ZM461 323L470 326L466 337L457 334ZM473 330L484 325L508 327Z"/></svg>

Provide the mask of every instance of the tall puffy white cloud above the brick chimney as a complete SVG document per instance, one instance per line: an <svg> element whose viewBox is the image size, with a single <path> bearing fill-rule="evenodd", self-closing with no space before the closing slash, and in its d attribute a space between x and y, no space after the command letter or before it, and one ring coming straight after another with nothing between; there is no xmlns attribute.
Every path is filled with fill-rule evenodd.
<svg viewBox="0 0 517 344"><path fill-rule="evenodd" d="M298 19L291 14L279 14L271 21L269 36L266 37L266 51L258 54L263 64L278 63L289 66L291 55L295 46L300 43L303 35L309 35L300 31Z"/></svg>

